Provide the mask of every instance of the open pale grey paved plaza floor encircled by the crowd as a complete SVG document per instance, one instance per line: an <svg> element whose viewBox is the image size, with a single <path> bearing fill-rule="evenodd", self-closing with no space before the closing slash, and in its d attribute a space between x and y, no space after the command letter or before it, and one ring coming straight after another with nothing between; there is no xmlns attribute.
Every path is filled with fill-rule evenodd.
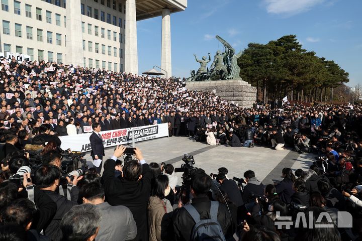
<svg viewBox="0 0 362 241"><path fill-rule="evenodd" d="M208 146L206 143L195 142L187 137L165 137L136 143L147 163L171 163L175 168L184 162L184 153L193 155L195 167L202 168L206 173L217 173L218 168L226 167L228 177L243 177L247 170L253 170L256 177L264 184L280 181L282 169L308 169L313 163L313 155L298 154L290 150L275 151L265 147L228 147L224 145ZM105 150L105 159L112 156L114 148ZM92 160L90 153L85 158ZM176 173L181 185L182 173Z"/></svg>

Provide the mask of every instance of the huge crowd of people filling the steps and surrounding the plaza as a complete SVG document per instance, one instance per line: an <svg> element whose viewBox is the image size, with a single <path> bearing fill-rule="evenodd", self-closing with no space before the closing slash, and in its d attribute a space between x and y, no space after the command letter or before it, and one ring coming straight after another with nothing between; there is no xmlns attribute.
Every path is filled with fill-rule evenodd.
<svg viewBox="0 0 362 241"><path fill-rule="evenodd" d="M0 241L360 240L361 104L241 108L185 79L15 59L1 61L0 98ZM284 168L274 185L257 170L235 182L225 167L213 177L191 167L179 187L171 164L147 164L138 148L123 163L119 146L102 175L81 162L69 174L59 136L163 123L170 137L288 148L315 162ZM295 225L300 213L314 228Z"/></svg>

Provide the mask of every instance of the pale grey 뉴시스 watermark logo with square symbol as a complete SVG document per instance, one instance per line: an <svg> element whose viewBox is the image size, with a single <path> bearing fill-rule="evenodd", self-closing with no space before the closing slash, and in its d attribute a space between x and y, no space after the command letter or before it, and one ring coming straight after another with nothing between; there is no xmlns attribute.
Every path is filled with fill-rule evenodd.
<svg viewBox="0 0 362 241"><path fill-rule="evenodd" d="M308 218L306 213L298 212L296 221L292 221L292 216L281 216L280 212L277 211L277 221L275 225L278 229L282 229L285 226L287 229L291 229L292 227L298 228L333 228L334 224L338 228L351 228L352 227L352 215L349 212L337 212L336 223L332 220L330 214L328 212L321 212L318 217L315 217L313 212L309 212ZM313 221L313 218L316 218L316 221ZM322 220L325 220L322 223Z"/></svg>

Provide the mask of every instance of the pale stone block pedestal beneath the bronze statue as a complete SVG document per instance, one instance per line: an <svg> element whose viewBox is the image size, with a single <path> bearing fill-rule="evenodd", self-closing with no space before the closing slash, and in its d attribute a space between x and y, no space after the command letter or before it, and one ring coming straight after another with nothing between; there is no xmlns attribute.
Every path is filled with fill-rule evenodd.
<svg viewBox="0 0 362 241"><path fill-rule="evenodd" d="M186 88L197 91L216 91L216 95L248 108L256 101L256 87L240 79L186 82Z"/></svg>

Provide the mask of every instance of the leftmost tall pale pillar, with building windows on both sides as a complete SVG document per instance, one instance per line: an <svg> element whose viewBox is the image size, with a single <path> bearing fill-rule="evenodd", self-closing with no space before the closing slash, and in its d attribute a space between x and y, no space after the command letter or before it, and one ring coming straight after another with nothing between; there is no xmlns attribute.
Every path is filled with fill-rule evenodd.
<svg viewBox="0 0 362 241"><path fill-rule="evenodd" d="M70 1L69 1L70 2ZM81 29L80 0L72 0L66 5L66 48L63 54L65 64L83 66L83 41ZM85 66L84 66L85 67Z"/></svg>

